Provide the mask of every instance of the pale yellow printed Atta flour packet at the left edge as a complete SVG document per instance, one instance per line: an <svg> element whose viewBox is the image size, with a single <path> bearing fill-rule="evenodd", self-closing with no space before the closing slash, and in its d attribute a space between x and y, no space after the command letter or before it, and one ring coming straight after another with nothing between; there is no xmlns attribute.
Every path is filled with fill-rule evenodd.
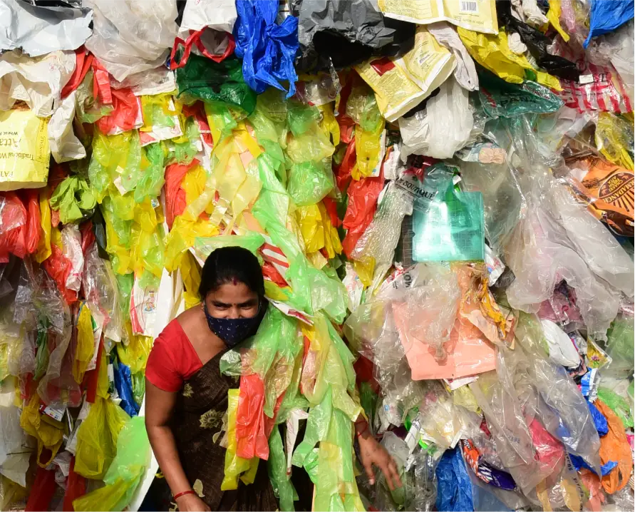
<svg viewBox="0 0 635 512"><path fill-rule="evenodd" d="M48 119L28 109L0 111L0 190L45 187Z"/></svg>

